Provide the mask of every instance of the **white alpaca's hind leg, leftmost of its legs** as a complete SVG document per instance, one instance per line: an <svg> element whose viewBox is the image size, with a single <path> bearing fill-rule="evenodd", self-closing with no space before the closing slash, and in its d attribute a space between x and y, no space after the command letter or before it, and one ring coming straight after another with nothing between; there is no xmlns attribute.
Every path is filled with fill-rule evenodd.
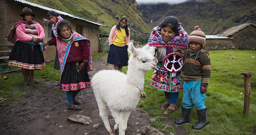
<svg viewBox="0 0 256 135"><path fill-rule="evenodd" d="M103 120L103 123L105 125L105 128L107 129L109 134L113 134L112 130L110 128L109 122L108 122L108 107L107 104L104 101L97 100L98 107L99 107L99 114L101 119Z"/></svg>

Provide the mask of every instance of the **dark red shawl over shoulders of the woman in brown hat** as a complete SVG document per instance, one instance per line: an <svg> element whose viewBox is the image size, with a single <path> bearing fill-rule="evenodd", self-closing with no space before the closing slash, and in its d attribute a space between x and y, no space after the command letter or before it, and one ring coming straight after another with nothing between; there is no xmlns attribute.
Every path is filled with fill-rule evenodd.
<svg viewBox="0 0 256 135"><path fill-rule="evenodd" d="M31 25L31 24L34 24L34 23L37 23L35 21L31 21L31 22L27 22L27 21L23 21L23 20L19 20L18 22L16 22L16 24L14 26L12 26L10 32L8 32L7 34L7 39L8 41L10 41L12 44L15 43L16 41L16 34L15 34L15 31L16 31L16 28L17 26L19 26L21 23L24 23L26 25Z"/></svg>

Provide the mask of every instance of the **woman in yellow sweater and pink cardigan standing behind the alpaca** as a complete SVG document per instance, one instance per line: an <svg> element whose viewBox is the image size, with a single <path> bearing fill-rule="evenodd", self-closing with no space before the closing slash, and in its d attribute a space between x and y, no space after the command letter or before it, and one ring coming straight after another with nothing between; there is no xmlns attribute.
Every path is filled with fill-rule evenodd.
<svg viewBox="0 0 256 135"><path fill-rule="evenodd" d="M107 63L113 64L115 70L122 71L123 66L128 65L128 44L130 42L130 29L127 26L127 18L121 17L119 23L112 27L108 37Z"/></svg>

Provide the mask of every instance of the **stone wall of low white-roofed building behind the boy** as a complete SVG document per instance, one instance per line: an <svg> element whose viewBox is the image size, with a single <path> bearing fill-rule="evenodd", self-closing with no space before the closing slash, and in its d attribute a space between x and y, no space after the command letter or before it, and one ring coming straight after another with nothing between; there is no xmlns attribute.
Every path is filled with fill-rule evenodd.
<svg viewBox="0 0 256 135"><path fill-rule="evenodd" d="M233 39L206 39L206 43L204 49L207 50L229 50L234 49L234 41Z"/></svg>

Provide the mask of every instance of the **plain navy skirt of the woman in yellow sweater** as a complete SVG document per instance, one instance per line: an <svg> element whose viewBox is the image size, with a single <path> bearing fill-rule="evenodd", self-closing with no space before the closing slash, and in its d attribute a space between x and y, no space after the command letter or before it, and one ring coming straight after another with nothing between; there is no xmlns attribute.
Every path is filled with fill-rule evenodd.
<svg viewBox="0 0 256 135"><path fill-rule="evenodd" d="M107 63L113 65L127 66L128 65L128 46L116 46L114 44L110 45L108 52L108 61Z"/></svg>

